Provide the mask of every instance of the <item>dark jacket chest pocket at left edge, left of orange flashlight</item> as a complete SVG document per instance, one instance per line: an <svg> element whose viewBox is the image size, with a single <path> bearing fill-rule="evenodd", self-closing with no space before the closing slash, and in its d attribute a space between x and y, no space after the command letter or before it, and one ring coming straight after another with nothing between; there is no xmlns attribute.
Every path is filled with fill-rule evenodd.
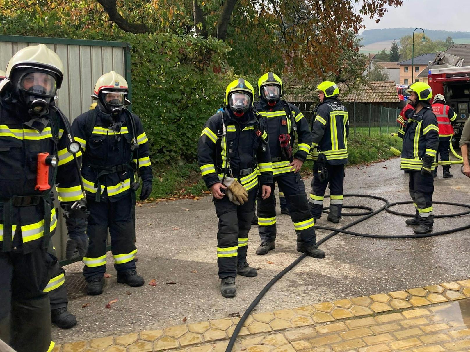
<svg viewBox="0 0 470 352"><path fill-rule="evenodd" d="M24 163L23 141L21 139L0 137L0 179L18 180L15 170Z"/></svg>

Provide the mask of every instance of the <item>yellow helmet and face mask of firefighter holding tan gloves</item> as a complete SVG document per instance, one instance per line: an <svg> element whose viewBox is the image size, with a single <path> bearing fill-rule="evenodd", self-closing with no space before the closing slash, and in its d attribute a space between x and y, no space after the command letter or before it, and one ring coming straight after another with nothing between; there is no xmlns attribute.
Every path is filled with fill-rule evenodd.
<svg viewBox="0 0 470 352"><path fill-rule="evenodd" d="M250 82L238 78L227 85L224 101L235 116L241 117L253 106L254 97L255 90Z"/></svg>

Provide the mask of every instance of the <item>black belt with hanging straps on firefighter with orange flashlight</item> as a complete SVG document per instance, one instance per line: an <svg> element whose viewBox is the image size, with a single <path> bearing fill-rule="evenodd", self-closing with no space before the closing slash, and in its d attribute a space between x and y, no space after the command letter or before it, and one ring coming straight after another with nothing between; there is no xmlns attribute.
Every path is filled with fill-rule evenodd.
<svg viewBox="0 0 470 352"><path fill-rule="evenodd" d="M44 204L44 234L42 238L42 249L47 250L51 238L51 212L52 199L50 190L39 196L13 196L0 197L0 203L3 204L3 252L11 251L13 207L37 206L40 201Z"/></svg>

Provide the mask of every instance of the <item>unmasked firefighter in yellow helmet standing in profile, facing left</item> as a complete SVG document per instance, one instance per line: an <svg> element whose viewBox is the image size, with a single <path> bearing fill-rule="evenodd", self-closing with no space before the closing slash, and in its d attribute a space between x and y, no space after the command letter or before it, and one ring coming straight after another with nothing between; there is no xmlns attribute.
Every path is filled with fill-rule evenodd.
<svg viewBox="0 0 470 352"><path fill-rule="evenodd" d="M409 192L415 204L415 217L406 221L407 225L418 226L416 234L432 231L432 192L434 191L432 171L439 146L439 127L436 115L432 112L431 87L423 82L409 86L409 101L414 111L409 116L400 167L409 170Z"/></svg>

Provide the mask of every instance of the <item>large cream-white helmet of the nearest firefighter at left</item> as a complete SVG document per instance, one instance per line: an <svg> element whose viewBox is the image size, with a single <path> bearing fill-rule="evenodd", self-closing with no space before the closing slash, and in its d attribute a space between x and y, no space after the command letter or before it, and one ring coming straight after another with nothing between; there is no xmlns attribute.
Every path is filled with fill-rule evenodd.
<svg viewBox="0 0 470 352"><path fill-rule="evenodd" d="M12 78L16 69L41 69L55 76L55 86L59 89L63 80L63 63L59 55L44 44L26 46L8 61L6 77Z"/></svg>

